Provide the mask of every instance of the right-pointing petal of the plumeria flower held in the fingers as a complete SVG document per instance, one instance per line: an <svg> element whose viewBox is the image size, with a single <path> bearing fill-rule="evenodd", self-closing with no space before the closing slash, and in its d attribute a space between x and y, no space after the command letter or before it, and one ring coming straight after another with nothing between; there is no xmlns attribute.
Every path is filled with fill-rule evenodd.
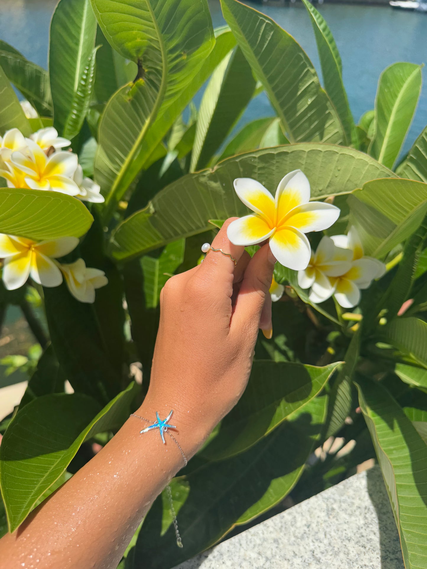
<svg viewBox="0 0 427 569"><path fill-rule="evenodd" d="M335 223L339 213L340 210L335 205L326 204L323 201L310 201L308 204L302 204L291 209L282 218L280 225L294 227L303 233L322 231Z"/></svg>

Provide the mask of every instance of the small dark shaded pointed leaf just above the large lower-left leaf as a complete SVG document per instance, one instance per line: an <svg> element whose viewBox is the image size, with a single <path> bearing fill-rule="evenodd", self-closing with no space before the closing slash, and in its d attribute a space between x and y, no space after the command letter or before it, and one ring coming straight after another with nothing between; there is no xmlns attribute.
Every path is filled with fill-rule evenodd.
<svg viewBox="0 0 427 569"><path fill-rule="evenodd" d="M38 361L37 368L20 400L19 409L37 397L42 397L42 395L63 392L65 379L65 374L59 366L54 348L50 344Z"/></svg>

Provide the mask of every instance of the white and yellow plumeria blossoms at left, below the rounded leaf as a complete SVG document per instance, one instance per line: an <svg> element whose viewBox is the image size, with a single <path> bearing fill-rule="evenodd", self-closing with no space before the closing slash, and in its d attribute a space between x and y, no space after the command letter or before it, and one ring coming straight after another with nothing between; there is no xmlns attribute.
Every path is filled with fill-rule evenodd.
<svg viewBox="0 0 427 569"><path fill-rule="evenodd" d="M80 302L93 303L95 289L108 283L104 271L85 265L83 259L61 264L58 259L76 248L77 237L60 237L50 241L33 241L24 237L0 233L0 258L3 258L3 283L15 290L28 277L44 287L59 286L63 277L68 290Z"/></svg>

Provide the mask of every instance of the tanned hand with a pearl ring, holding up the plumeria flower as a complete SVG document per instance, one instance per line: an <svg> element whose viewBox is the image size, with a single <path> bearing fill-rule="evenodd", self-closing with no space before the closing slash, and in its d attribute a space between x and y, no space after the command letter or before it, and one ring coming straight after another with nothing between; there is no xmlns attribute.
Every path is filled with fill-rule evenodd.
<svg viewBox="0 0 427 569"><path fill-rule="evenodd" d="M268 245L253 258L227 238L227 220L203 263L167 281L147 397L137 411L174 409L176 438L190 457L247 385L258 328L270 331L276 259Z"/></svg>

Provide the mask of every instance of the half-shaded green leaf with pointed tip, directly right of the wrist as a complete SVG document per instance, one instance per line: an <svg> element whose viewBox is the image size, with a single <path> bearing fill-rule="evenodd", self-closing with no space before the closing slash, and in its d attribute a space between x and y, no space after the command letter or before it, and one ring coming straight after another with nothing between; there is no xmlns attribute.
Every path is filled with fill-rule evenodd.
<svg viewBox="0 0 427 569"><path fill-rule="evenodd" d="M254 361L239 403L225 416L219 433L200 455L222 460L252 447L311 401L338 365L335 362L317 368L292 362Z"/></svg>

